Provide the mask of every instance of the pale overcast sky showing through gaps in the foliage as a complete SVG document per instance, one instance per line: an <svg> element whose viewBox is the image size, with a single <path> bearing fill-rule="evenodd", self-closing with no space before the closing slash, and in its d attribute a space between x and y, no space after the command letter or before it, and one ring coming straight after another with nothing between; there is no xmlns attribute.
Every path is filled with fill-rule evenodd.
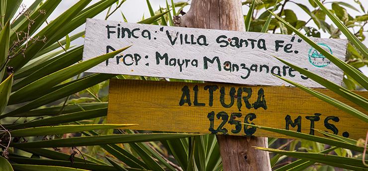
<svg viewBox="0 0 368 171"><path fill-rule="evenodd" d="M33 3L33 1L34 0L23 0L23 3L26 6L30 6ZM98 1L99 0L92 0L90 5L95 3L95 2L98 2ZM168 1L170 2L170 0L168 0ZM174 1L178 2L178 1L187 1L187 0L174 0ZM245 0L242 0L242 1L245 1ZM297 1L299 3L303 3L304 5L308 6L310 9L313 8L311 5L309 5L308 0L294 0L294 1ZM329 2L329 1L339 1L339 0L326 0L325 2ZM364 14L364 12L361 10L360 6L356 2L354 2L354 0L340 0L340 1L347 2L347 3L355 6L356 8L358 8L360 10L360 12L358 12L358 11L355 11L353 9L345 7L348 10L348 13L350 15L356 16L356 15L363 15ZM365 6L366 10L367 10L368 0L360 0L360 1L363 3L363 6ZM77 2L77 0L63 0L58 5L58 7L55 9L55 11L50 15L48 21L50 21L50 20L54 19L55 17L57 17L58 15L60 15L62 12L64 12L66 9L68 9L70 6L72 6L76 2ZM151 2L151 5L152 5L154 10L159 9L160 5L162 7L166 6L166 0L150 0L150 2ZM326 3L326 6L331 9L331 3ZM248 8L249 8L248 6L243 5L243 13L244 14L246 14L246 12L248 11ZM184 12L186 12L188 9L189 9L189 6L186 6L184 8ZM294 4L292 2L286 3L285 9L292 9L295 12L296 16L298 17L298 20L306 21L310 18L307 13L305 13L300 7L298 7L296 4ZM125 15L126 19L128 20L128 22L140 21L143 14L146 18L150 17L150 13L149 13L149 10L148 10L148 7L147 7L146 0L127 0L126 2L123 3L123 5L118 10L116 10L116 12L114 14L112 14L108 18L108 20L122 21L123 19L122 19L122 16L120 14L120 11L122 13L124 13L124 15ZM107 9L105 11L103 11L102 13L100 13L99 15L95 16L94 18L104 19L105 15L106 15L106 12L107 12ZM259 12L259 13L261 13L261 12ZM326 21L328 23L332 23L331 20L328 19L328 17L326 17ZM315 24L313 22L309 22L307 24L307 26L314 26L315 27ZM80 32L84 29L85 29L85 25L82 25L81 27L77 28L74 32L72 32L72 35L74 33ZM365 30L368 30L368 25L366 25ZM355 30L355 31L357 31L357 30ZM365 36L368 36L367 32L365 32ZM322 38L328 38L329 34L323 33L321 31L321 37ZM345 38L345 37L342 36L342 38ZM74 43L83 44L83 41L84 40L82 38L80 38L80 39L77 39ZM363 43L367 46L368 38ZM365 67L363 70L364 70L363 72L366 75L368 75L368 68Z"/></svg>

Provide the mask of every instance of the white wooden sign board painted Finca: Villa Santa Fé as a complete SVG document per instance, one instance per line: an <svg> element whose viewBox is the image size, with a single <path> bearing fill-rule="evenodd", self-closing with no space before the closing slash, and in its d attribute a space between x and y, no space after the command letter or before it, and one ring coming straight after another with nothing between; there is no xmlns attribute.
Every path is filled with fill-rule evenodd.
<svg viewBox="0 0 368 171"><path fill-rule="evenodd" d="M345 60L346 39L311 38ZM341 85L343 72L297 36L87 19L84 60L132 47L87 72L246 85L286 85L272 74L323 87L279 57Z"/></svg>

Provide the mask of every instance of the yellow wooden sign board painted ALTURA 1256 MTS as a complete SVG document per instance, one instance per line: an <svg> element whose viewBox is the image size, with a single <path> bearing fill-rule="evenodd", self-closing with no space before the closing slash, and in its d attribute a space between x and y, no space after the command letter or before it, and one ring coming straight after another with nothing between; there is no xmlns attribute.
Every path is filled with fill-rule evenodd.
<svg viewBox="0 0 368 171"><path fill-rule="evenodd" d="M366 112L328 89L316 90ZM356 93L368 97L367 91ZM110 80L107 122L137 123L130 127L137 130L278 138L286 136L241 123L353 139L364 138L368 129L368 123L296 87L137 80Z"/></svg>

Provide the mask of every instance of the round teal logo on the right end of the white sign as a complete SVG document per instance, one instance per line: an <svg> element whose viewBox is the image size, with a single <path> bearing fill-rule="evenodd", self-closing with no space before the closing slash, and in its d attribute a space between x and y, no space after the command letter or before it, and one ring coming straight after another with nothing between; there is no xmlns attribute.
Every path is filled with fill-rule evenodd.
<svg viewBox="0 0 368 171"><path fill-rule="evenodd" d="M332 54L332 50L328 45L324 43L318 43L318 45L320 45L320 47L322 47L327 52L330 52L330 54ZM308 51L308 59L309 59L309 63L311 63L313 66L318 67L318 68L326 67L331 63L330 60L328 60L325 56L323 56L313 47L311 47Z"/></svg>

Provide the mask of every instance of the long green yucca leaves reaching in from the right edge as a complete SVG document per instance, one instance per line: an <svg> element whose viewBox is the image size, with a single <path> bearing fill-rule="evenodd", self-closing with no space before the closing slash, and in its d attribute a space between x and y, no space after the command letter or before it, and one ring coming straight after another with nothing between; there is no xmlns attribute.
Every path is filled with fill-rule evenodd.
<svg viewBox="0 0 368 171"><path fill-rule="evenodd" d="M358 54L359 59L355 59L355 60L361 60L361 61L367 61L367 57L368 57L368 49L367 47L362 43L362 41L357 38L356 35L359 35L358 33L354 34L352 33L348 27L353 27L352 25L350 25L350 23L354 22L354 19L348 19L347 16L343 16L342 13L346 13L346 10L344 8L342 8L341 6L339 6L338 4L342 4L342 5L346 5L348 7L353 7L345 2L332 2L332 7L333 7L333 13L332 11L330 11L329 9L327 9L326 6L324 6L323 2L319 1L319 0L310 0L311 4L314 5L315 7L319 7L319 10L322 11L325 15L327 15L332 21L333 23L338 27L338 33L340 33L340 31L349 39L349 46L350 49L349 51L353 51L353 52L357 52L356 54ZM287 0L284 1L283 6L285 5L285 3L287 2ZM294 2L296 3L296 2ZM301 7L305 12L307 12L310 16L311 19L315 20L316 24L320 24L321 21L315 16L314 12L310 12L310 10L303 4L300 3L296 3L299 7ZM253 5L253 4L252 4ZM365 11L364 7L361 5L363 11ZM252 8L252 7L251 7ZM276 4L274 9L276 8ZM354 7L353 7L354 8ZM355 68L354 66L351 66L349 64L347 64L345 61L341 61L340 59L334 57L332 54L330 54L329 52L327 52L326 50L322 49L321 47L319 47L319 45L317 45L317 43L313 42L312 40L310 40L307 36L305 36L303 33L301 33L299 31L298 28L296 28L298 26L297 22L287 22L285 21L285 19L287 19L287 16L285 16L285 18L280 17L281 15L277 15L274 13L274 9L273 11L268 10L269 13L271 13L279 22L282 23L283 26L286 26L287 31L289 33L295 33L296 35L298 35L299 37L301 37L304 41L306 41L309 45L311 45L313 48L315 48L316 50L318 50L321 54L323 54L327 59L329 59L331 62L333 62L336 66L338 66L341 70L344 71L344 73L346 74L347 78L350 78L349 81L346 82L350 82L350 83L355 83L360 87L363 87L364 89L368 89L368 78L367 76L365 76L363 73L361 73L361 71L359 71L357 68ZM316 10L315 10L316 11ZM267 30L265 28L268 28L268 24L270 23L271 17L272 15L269 15L266 24L263 27L263 31ZM349 16L351 17L351 16ZM367 23L367 14L365 14L365 19L363 19L362 21L365 23ZM350 21L349 20L353 20ZM355 20L357 21L357 20ZM322 21L324 22L324 21ZM362 32L364 31L364 24L363 26L360 28L362 30ZM246 23L247 25L247 23ZM249 25L248 25L249 26ZM331 27L333 27L331 25ZM300 28L300 25L299 25ZM337 34L337 33L334 33ZM362 34L360 34L362 35ZM331 34L331 37L333 37L333 35ZM362 38L363 40L365 39L365 37L363 36ZM351 57L351 56L350 56ZM277 58L277 57L275 57ZM303 85L299 85L297 83L294 83L292 81L289 81L287 79L281 78L279 76L279 79L284 80L285 82L294 85L316 97L318 97L319 99L365 121L368 122L368 116L367 114L365 114L368 111L368 100L365 97L362 97L352 91L350 91L348 88L342 87L340 85L336 85L330 81L328 81L326 78L322 78L318 75L315 75L301 67L295 66L293 64L288 63L287 61L283 61L279 58L277 58L279 61L283 62L284 64L290 66L291 68L294 68L296 71L300 72L301 74L309 77L310 79L314 80L315 82L319 83L320 85L325 86L326 88L330 89L331 91L341 95L342 97L350 100L351 102L354 102L355 104L361 106L364 108L365 111L359 111L358 109L351 107L345 103L342 103L341 101L338 101L334 98L331 98L325 94L322 94L316 90L313 90L311 88L307 88ZM359 67L362 66L366 66L367 64L363 64L363 65L359 65ZM356 66L357 67L357 66ZM347 83L346 83L347 84ZM354 84L354 87L355 87ZM348 85L348 84L347 84ZM350 86L350 88L352 88ZM289 157L293 157L293 158L299 158L299 160L292 162L288 165L282 166L278 169L276 169L276 171L288 171L288 170L296 170L296 171L300 171L300 170L304 170L307 169L308 167L314 165L315 163L319 163L319 164L324 164L324 165L328 165L328 166L333 166L333 167L338 167L338 168L343 168L343 169L347 169L347 170L354 170L354 171L366 171L368 170L368 165L367 160L365 158L365 153L366 153L366 149L367 149L367 138L368 138L368 132L367 132L367 137L364 139L360 139L360 140L353 140L353 139L349 139L349 138L345 138L339 135L335 135L335 134L331 134L328 132L323 132L323 131L319 131L321 134L327 136L328 138L324 138L324 137L317 137L317 136L313 136L313 135L309 135L309 134L304 134L304 133L298 133L298 132L294 132L294 131L289 131L289 130L282 130L282 129L276 129L276 128L270 128L270 127L260 127L260 126L255 126L255 125L250 125L250 124L246 124L249 126L253 126L253 127L257 127L259 129L264 129L264 130L268 130L268 131L272 131L272 132L276 132L279 134L284 134L290 137L295 137L298 139L303 139L303 140L312 140L314 142L318 142L318 143L323 143L326 145L330 145L329 149L324 149L322 148L319 151L314 151L312 152L290 152L290 151L284 151L284 150L279 150L279 149L268 149L268 148L258 148L260 150L265 150L265 151L269 151L269 152L273 152L276 153L277 155L275 156L277 159L282 156L289 156ZM368 129L367 129L368 131ZM364 138L364 137L362 137ZM339 154L336 149L338 148L344 148L344 149L348 149L349 152L351 151L355 151L355 152L360 152L363 153L362 155L357 155L357 156L347 156L346 153L345 154ZM336 152L337 155L332 155L332 154L328 154L331 151ZM340 151L341 152L341 151ZM328 154L328 155L326 155ZM340 156L339 156L340 155ZM333 168L323 168L322 170L333 170Z"/></svg>

